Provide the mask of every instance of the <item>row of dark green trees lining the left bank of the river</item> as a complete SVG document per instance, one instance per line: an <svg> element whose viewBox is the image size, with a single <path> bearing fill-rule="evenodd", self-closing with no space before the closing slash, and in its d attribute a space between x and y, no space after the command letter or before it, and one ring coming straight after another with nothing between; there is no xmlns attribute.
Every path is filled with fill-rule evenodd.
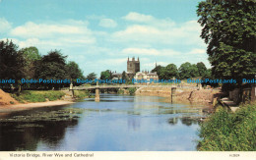
<svg viewBox="0 0 256 160"><path fill-rule="evenodd" d="M68 86L65 83L24 83L26 80L76 80L85 79L79 65L74 61L66 61L60 50L51 50L40 55L36 47L19 49L11 40L0 41L0 80L16 80L14 86L41 87L43 89ZM0 85L10 86L1 82Z"/></svg>

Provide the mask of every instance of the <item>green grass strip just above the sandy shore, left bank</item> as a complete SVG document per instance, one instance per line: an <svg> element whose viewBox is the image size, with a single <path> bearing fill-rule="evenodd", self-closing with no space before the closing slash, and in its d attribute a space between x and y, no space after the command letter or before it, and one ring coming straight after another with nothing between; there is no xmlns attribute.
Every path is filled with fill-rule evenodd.
<svg viewBox="0 0 256 160"><path fill-rule="evenodd" d="M61 99L65 93L58 90L34 91L25 90L20 95L12 94L12 96L21 103L26 102L45 102L47 100L54 101Z"/></svg>

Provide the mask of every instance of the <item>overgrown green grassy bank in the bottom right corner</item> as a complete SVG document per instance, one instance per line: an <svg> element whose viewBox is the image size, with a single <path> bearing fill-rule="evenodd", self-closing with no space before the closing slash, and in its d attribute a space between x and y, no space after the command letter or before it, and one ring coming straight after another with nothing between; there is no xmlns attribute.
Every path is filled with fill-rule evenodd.
<svg viewBox="0 0 256 160"><path fill-rule="evenodd" d="M201 125L198 150L255 151L256 103L241 106L235 113L223 108Z"/></svg>

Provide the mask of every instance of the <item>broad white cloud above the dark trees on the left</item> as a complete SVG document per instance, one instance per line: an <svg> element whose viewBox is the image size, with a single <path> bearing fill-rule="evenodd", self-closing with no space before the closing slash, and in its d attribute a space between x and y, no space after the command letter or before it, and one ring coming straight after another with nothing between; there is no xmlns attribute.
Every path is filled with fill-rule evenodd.
<svg viewBox="0 0 256 160"><path fill-rule="evenodd" d="M20 48L36 46L43 52L84 47L96 43L94 32L87 27L88 24L86 21L75 20L43 24L28 22L11 29L9 36L15 37L12 39L17 41Z"/></svg>

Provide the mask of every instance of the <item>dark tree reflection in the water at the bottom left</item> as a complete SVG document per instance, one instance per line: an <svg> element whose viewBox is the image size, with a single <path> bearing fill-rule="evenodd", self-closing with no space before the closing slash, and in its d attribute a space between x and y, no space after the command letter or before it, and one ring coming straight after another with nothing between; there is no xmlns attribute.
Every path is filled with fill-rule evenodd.
<svg viewBox="0 0 256 160"><path fill-rule="evenodd" d="M36 150L37 144L47 143L51 148L58 147L67 128L78 125L78 121L8 123L0 125L0 150Z"/></svg>

